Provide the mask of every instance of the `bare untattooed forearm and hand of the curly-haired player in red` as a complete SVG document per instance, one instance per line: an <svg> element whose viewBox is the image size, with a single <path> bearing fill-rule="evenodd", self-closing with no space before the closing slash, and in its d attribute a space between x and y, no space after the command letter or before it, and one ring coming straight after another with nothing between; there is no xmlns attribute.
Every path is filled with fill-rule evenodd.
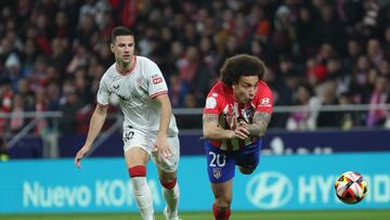
<svg viewBox="0 0 390 220"><path fill-rule="evenodd" d="M247 130L247 128L236 127L234 130L223 129L219 126L218 120L219 116L217 114L204 114L203 131L206 139L224 140L248 138L249 131Z"/></svg>

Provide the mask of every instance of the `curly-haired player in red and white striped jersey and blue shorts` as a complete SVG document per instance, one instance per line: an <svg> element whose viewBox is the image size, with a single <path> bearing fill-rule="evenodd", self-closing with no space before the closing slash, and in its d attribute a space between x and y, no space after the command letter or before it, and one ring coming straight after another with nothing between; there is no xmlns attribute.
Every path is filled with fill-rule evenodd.
<svg viewBox="0 0 390 220"><path fill-rule="evenodd" d="M216 220L230 218L235 166L250 174L259 164L273 109L272 91L262 81L264 72L265 65L256 56L232 56L206 100L203 130Z"/></svg>

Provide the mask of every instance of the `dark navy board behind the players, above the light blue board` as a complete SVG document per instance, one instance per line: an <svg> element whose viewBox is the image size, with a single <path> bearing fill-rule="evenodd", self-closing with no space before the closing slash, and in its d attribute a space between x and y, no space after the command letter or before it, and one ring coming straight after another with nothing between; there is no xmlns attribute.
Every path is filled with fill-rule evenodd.
<svg viewBox="0 0 390 220"><path fill-rule="evenodd" d="M203 155L202 131L179 134L182 155ZM268 132L262 145L263 155L330 154L347 152L390 151L390 130L351 131L281 131ZM60 157L74 157L86 141L86 134L64 134L58 139ZM368 141L369 140L369 141ZM369 143L369 144L367 144ZM106 139L92 156L122 156L119 132ZM23 139L10 150L11 158L41 158L43 142L40 138Z"/></svg>

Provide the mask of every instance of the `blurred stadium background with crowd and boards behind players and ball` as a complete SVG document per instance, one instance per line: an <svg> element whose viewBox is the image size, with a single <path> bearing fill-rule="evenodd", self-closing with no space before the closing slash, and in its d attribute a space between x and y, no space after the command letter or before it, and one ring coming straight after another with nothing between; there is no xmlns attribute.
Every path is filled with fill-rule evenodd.
<svg viewBox="0 0 390 220"><path fill-rule="evenodd" d="M202 107L225 57L269 69L275 114L259 169L234 182L233 219L389 217L390 2L385 0L1 0L0 219L139 219L112 98L82 170L99 80L116 25L161 68L181 129L184 219L211 219ZM122 167L122 169L121 169ZM148 167L156 210L164 208ZM333 183L356 170L367 198L340 204ZM161 219L161 216L157 216Z"/></svg>

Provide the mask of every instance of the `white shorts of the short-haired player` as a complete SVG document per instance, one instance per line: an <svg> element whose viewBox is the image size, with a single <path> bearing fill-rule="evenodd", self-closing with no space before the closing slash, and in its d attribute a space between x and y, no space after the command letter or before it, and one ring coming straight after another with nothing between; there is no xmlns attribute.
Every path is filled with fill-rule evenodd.
<svg viewBox="0 0 390 220"><path fill-rule="evenodd" d="M152 153L153 144L156 140L156 135L146 134L138 129L126 129L122 134L123 152L126 154L132 147L141 147L151 156L152 160L165 172L174 172L178 169L180 157L180 143L178 135L168 137L168 144L172 152L172 156L166 160L157 161Z"/></svg>

